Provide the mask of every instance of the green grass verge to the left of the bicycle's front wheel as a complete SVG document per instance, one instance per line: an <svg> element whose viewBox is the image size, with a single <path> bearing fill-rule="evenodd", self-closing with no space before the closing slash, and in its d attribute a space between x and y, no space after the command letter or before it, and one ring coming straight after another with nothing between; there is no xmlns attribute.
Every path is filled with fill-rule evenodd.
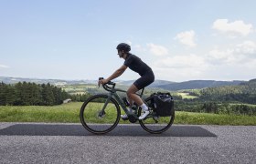
<svg viewBox="0 0 256 164"><path fill-rule="evenodd" d="M1 122L80 122L81 103L44 106L1 106Z"/></svg>

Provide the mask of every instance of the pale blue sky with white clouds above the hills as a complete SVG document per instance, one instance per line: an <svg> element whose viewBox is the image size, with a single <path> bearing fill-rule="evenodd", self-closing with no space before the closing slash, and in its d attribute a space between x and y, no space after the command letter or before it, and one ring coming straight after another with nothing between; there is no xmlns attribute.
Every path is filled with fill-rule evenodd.
<svg viewBox="0 0 256 164"><path fill-rule="evenodd" d="M169 81L256 78L255 0L0 0L0 77L90 79L116 46ZM139 75L126 69L120 80Z"/></svg>

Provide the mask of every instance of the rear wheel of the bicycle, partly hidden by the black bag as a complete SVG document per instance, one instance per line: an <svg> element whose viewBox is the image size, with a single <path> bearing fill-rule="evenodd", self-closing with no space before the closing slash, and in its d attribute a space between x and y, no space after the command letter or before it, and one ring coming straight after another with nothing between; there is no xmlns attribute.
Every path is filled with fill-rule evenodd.
<svg viewBox="0 0 256 164"><path fill-rule="evenodd" d="M155 113L155 108L152 105L152 98L148 97L145 100L146 105L149 107L150 114L143 120L139 120L140 125L144 130L150 133L159 134L165 132L170 128L175 120L175 110L173 109L172 115L169 117L159 117ZM139 108L139 115L142 113L142 108Z"/></svg>

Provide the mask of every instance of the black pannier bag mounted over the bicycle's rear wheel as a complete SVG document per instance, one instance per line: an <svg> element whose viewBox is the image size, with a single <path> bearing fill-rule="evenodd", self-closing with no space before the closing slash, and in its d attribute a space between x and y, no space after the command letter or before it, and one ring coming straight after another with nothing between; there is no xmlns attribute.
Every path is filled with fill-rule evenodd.
<svg viewBox="0 0 256 164"><path fill-rule="evenodd" d="M170 93L156 93L152 95L155 112L160 117L169 117L174 113L174 98ZM153 104L152 104L153 105Z"/></svg>

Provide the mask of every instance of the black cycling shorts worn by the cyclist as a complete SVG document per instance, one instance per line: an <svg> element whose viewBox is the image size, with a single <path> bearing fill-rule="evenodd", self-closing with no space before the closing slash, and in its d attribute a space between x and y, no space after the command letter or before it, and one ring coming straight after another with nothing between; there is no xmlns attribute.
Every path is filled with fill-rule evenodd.
<svg viewBox="0 0 256 164"><path fill-rule="evenodd" d="M155 75L153 73L153 71L149 71L146 74L144 74L144 76L140 77L139 79L137 79L133 85L135 87L137 87L138 90L149 86L151 83L153 83L155 81Z"/></svg>

